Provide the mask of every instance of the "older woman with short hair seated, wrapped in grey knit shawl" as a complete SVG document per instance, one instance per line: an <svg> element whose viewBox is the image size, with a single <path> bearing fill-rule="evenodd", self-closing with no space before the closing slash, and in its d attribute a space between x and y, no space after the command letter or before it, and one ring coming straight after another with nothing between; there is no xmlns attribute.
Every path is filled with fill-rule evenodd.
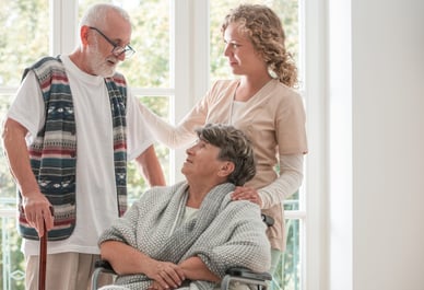
<svg viewBox="0 0 424 290"><path fill-rule="evenodd" d="M249 140L224 125L197 134L181 169L186 181L145 192L101 236L102 258L118 274L102 289L213 289L231 267L269 269L259 207L231 199L256 173Z"/></svg>

